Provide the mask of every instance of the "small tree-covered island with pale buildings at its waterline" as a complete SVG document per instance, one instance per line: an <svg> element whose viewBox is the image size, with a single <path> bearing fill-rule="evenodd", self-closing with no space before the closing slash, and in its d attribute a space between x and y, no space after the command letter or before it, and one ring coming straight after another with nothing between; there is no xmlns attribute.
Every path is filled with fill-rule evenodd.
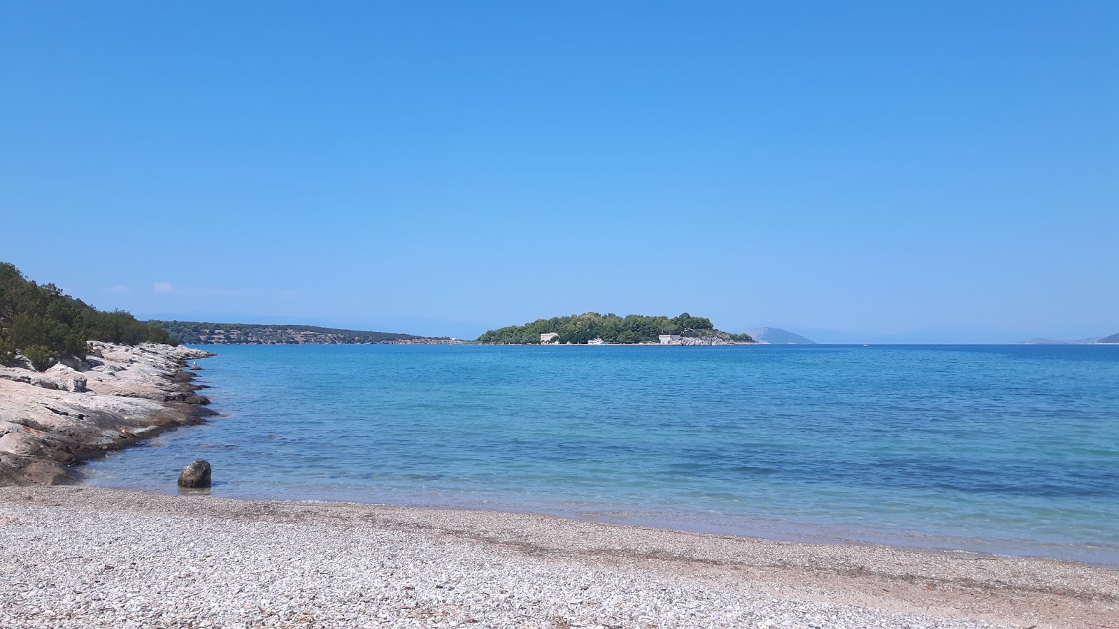
<svg viewBox="0 0 1119 629"><path fill-rule="evenodd" d="M476 342L485 345L735 345L754 342L749 334L716 330L711 319L649 317L645 314L599 314L584 312L568 317L537 319L523 326L489 330Z"/></svg>

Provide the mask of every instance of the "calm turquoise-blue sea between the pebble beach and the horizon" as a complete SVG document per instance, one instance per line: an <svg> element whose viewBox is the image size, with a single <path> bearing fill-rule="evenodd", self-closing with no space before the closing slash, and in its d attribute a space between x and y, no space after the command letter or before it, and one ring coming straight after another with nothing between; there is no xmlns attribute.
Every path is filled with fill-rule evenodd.
<svg viewBox="0 0 1119 629"><path fill-rule="evenodd" d="M1119 346L219 346L103 487L529 510L1119 566Z"/></svg>

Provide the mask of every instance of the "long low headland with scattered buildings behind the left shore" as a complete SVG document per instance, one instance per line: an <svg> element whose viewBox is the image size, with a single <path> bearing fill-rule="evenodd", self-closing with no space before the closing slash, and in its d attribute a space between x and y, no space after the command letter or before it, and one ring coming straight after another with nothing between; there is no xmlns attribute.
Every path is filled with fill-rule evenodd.
<svg viewBox="0 0 1119 629"><path fill-rule="evenodd" d="M448 337L420 337L396 332L370 332L298 325L213 323L208 321L160 321L160 328L184 345L446 345Z"/></svg>

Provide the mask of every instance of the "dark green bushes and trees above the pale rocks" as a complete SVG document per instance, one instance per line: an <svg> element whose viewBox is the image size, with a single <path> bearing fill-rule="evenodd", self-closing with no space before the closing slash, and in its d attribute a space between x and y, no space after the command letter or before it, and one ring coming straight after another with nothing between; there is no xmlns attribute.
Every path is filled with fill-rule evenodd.
<svg viewBox="0 0 1119 629"><path fill-rule="evenodd" d="M123 310L105 312L63 294L54 284L28 280L0 262L0 363L22 354L40 372L64 356L84 358L86 341L177 345L166 331Z"/></svg>

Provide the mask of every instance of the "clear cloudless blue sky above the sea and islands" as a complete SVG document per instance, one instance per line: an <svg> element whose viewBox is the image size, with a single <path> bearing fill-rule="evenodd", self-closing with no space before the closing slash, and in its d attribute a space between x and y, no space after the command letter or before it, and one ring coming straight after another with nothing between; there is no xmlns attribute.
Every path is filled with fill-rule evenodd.
<svg viewBox="0 0 1119 629"><path fill-rule="evenodd" d="M1119 331L1119 3L0 0L0 260L139 317Z"/></svg>

